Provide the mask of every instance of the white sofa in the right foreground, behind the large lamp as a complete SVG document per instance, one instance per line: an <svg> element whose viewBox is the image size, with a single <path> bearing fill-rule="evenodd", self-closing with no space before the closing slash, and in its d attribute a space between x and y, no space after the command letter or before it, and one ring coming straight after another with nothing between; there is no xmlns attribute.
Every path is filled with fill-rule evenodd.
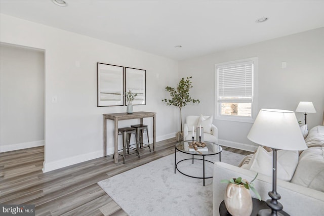
<svg viewBox="0 0 324 216"><path fill-rule="evenodd" d="M278 201L284 206L283 210L292 216L321 216L324 215L324 126L312 128L305 141L308 149L300 154L291 182L277 179L277 192L281 195ZM219 215L219 205L224 199L226 184L221 184L221 180L242 177L251 181L255 175L255 171L216 162L213 173L213 215ZM259 173L254 184L262 200L270 198L268 192L272 190L272 176ZM253 192L251 195L255 197Z"/></svg>

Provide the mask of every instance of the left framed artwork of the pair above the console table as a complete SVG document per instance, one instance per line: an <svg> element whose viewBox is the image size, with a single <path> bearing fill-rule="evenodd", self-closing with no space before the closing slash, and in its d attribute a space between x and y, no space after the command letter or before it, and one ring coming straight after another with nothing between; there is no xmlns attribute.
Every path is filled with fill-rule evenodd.
<svg viewBox="0 0 324 216"><path fill-rule="evenodd" d="M124 67L97 62L97 106L124 105Z"/></svg>

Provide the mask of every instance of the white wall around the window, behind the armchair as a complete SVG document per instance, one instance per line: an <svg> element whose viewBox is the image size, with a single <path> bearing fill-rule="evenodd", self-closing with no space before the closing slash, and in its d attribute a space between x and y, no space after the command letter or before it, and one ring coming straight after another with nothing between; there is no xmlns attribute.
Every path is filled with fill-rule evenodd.
<svg viewBox="0 0 324 216"><path fill-rule="evenodd" d="M200 99L199 110L189 114L214 114L214 65L258 57L258 110L260 108L295 111L300 101L312 101L317 113L307 115L308 128L322 122L324 109L324 28L259 42L179 62L179 77L193 76L192 97ZM287 62L287 68L281 68ZM304 121L303 113L296 113ZM214 120L220 144L253 150L247 139L252 123Z"/></svg>

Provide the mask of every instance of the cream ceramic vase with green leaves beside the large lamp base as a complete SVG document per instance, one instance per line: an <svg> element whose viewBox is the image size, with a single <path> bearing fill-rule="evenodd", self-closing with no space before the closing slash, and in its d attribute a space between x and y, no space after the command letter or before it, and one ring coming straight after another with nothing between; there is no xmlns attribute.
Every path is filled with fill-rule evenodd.
<svg viewBox="0 0 324 216"><path fill-rule="evenodd" d="M244 185L229 183L225 191L225 205L233 216L250 216L252 212L252 197L250 190Z"/></svg>

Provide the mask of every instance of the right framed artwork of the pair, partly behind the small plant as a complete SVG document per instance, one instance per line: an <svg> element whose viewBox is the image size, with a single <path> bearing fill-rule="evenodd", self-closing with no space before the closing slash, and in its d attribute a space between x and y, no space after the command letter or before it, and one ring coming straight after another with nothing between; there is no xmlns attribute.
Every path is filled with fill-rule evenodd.
<svg viewBox="0 0 324 216"><path fill-rule="evenodd" d="M146 104L146 70L125 67L125 77L126 77L125 92L131 90L132 93L137 94L132 104L145 105Z"/></svg>

